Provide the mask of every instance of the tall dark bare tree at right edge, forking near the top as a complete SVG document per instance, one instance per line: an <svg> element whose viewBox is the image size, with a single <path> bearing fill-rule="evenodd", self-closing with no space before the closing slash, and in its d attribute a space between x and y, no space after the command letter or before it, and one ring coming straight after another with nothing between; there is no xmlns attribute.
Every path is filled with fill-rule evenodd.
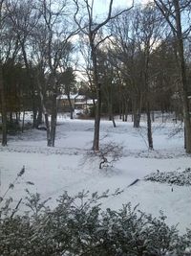
<svg viewBox="0 0 191 256"><path fill-rule="evenodd" d="M189 35L191 31L190 22L185 23L183 15L188 14L187 8L190 8L191 1L185 0L154 0L155 4L159 8L166 22L171 28L171 31L176 40L177 59L180 68L180 93L183 106L183 120L185 128L185 149L187 153L191 153L191 121L189 114L189 102L188 102L188 82L186 76L186 64L184 57L184 39ZM184 21L183 21L184 20ZM190 18L187 17L190 21ZM184 25L182 25L184 23ZM187 28L185 26L187 25ZM185 28L185 29L183 29Z"/></svg>

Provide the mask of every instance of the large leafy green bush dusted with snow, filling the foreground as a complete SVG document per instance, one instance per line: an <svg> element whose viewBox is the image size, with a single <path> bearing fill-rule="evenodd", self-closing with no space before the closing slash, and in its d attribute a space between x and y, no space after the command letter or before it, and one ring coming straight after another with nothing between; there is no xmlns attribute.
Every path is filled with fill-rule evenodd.
<svg viewBox="0 0 191 256"><path fill-rule="evenodd" d="M30 198L31 197L31 198ZM99 199L66 192L51 210L39 195L28 193L31 212L0 216L1 256L183 256L189 251L191 231L179 236L176 227L124 205L102 211ZM3 209L0 206L0 210Z"/></svg>

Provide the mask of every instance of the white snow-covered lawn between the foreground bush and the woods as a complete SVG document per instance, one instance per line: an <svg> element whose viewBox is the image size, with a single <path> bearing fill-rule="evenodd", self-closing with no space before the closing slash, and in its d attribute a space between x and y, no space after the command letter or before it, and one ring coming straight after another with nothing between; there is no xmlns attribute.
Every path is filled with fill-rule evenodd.
<svg viewBox="0 0 191 256"><path fill-rule="evenodd" d="M118 209L129 201L139 203L138 209L154 216L162 210L167 223L177 224L181 233L191 228L191 186L172 186L151 181L143 177L152 172L184 171L191 167L190 156L183 150L183 135L178 133L169 138L179 125L174 123L153 124L155 151L148 151L145 123L141 128L133 128L131 122L117 120L117 128L112 122L101 121L100 144L115 142L123 147L122 157L111 169L99 170L98 161L87 159L92 148L94 121L70 120L60 116L54 148L46 146L46 131L27 130L9 139L8 147L0 147L0 195L8 188L17 173L25 166L23 175L9 193L15 201L25 198L25 189L38 192L42 198L55 199L64 191L74 195L82 190L99 193L117 188L123 192L117 196L102 199L103 208ZM129 186L134 180L139 181ZM34 185L27 184L28 181Z"/></svg>

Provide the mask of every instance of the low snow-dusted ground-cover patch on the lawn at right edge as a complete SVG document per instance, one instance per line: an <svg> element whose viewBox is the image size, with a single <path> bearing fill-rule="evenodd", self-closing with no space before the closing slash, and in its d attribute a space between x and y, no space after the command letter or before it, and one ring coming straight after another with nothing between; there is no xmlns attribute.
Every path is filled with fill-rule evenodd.
<svg viewBox="0 0 191 256"><path fill-rule="evenodd" d="M156 181L160 183L169 183L179 186L191 185L191 169L187 168L183 172L167 172L162 173L159 170L156 173L146 175L145 180Z"/></svg>

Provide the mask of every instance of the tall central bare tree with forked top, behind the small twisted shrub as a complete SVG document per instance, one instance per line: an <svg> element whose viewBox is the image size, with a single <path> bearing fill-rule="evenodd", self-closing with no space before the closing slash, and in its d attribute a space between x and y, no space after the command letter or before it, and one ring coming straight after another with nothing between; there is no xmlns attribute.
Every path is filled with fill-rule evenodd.
<svg viewBox="0 0 191 256"><path fill-rule="evenodd" d="M93 81L96 86L96 118L95 118L95 132L94 132L94 142L93 142L93 150L99 151L99 126L100 126L100 107L101 107L101 92L100 92L100 78L98 75L98 69L97 69L97 48L98 46L106 39L108 38L108 35L106 35L104 38L99 39L97 34L100 32L100 29L103 28L110 20L115 19L118 15L120 15L123 12L127 12L130 9L133 8L134 2L132 3L132 6L128 9L125 9L123 11L117 12L116 14L113 14L113 0L110 0L109 3L109 11L107 14L107 17L102 22L97 22L94 17L94 1L88 1L88 0L74 0L75 5L75 13L74 13L74 20L76 24L78 25L80 31L87 35L90 48L91 48L91 58L92 58L92 65L93 65ZM80 5L83 4L83 5ZM85 19L82 18L82 15L84 13L82 10L85 7Z"/></svg>

